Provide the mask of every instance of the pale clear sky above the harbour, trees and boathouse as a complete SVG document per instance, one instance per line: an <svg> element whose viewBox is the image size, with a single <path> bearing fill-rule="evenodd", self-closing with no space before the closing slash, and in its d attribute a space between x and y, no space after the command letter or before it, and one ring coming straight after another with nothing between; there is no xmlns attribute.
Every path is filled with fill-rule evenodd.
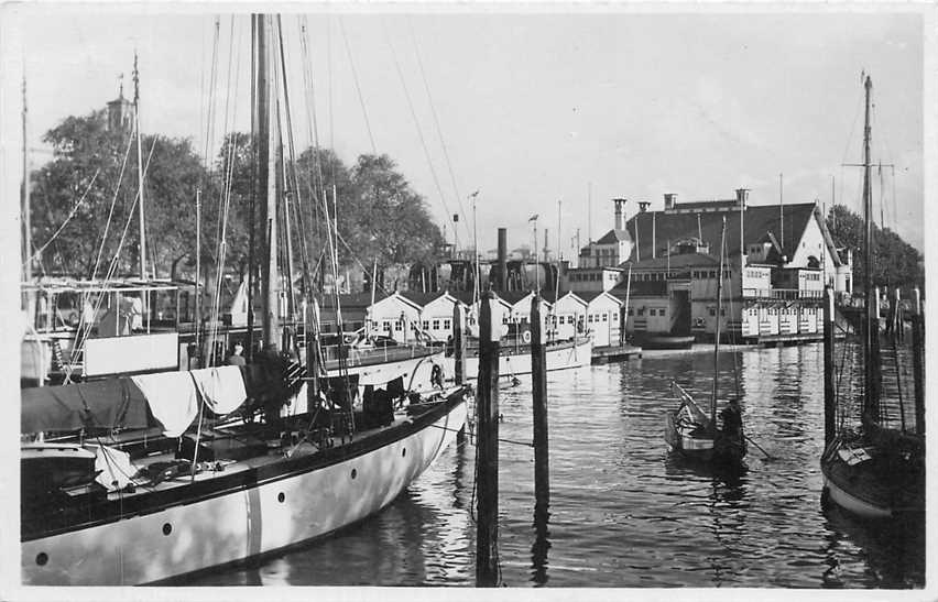
<svg viewBox="0 0 938 602"><path fill-rule="evenodd" d="M247 131L249 7L6 6L7 47L26 70L31 164L51 157L43 132L117 97L121 73L132 95L134 50L144 132L203 150L219 132ZM613 197L630 199L631 215L639 200L662 209L665 193L679 203L745 187L754 205L836 200L859 211L862 169L842 164L862 162L868 73L873 161L894 165L882 178L874 171L874 214L923 249L925 20L920 7L886 9L292 6L282 23L296 141L310 143L315 113L320 143L347 164L389 154L450 241L448 218L461 214L460 247L479 190L480 249L494 248L499 227L510 248L530 244L536 214L538 244L547 228L556 249L559 225L569 258L577 231L585 245L612 227ZM3 85L15 99L19 81Z"/></svg>

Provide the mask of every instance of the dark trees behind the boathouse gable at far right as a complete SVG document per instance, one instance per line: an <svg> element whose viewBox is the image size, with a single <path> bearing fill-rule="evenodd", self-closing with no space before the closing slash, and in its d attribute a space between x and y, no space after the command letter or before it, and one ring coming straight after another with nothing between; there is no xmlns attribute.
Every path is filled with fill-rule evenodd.
<svg viewBox="0 0 938 602"><path fill-rule="evenodd" d="M838 248L853 251L853 282L865 289L865 254L863 219L850 209L836 205L827 217L827 227ZM924 289L925 272L921 253L893 230L873 225L873 285Z"/></svg>

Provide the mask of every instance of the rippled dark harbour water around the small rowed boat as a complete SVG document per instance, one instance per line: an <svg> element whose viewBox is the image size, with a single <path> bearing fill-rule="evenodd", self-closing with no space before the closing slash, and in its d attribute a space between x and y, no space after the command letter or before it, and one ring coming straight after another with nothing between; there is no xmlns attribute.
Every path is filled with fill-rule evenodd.
<svg viewBox="0 0 938 602"><path fill-rule="evenodd" d="M910 588L925 582L924 526L822 510L818 344L720 355L735 374L746 470L713 474L666 451L677 380L712 386L706 352L548 374L550 517L535 533L534 453L501 444L500 561L509 587ZM531 441L531 381L502 391L500 436ZM450 448L391 506L325 540L186 584L475 585L475 448Z"/></svg>

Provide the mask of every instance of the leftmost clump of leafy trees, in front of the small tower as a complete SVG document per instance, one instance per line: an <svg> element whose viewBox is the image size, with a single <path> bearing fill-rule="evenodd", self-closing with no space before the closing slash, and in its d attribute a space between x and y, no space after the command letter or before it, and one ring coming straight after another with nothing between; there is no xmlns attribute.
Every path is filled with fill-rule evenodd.
<svg viewBox="0 0 938 602"><path fill-rule="evenodd" d="M53 160L32 178L32 238L50 243L40 258L46 272L103 276L139 269L135 139L108 130L105 111L68 117L43 136ZM175 275L194 252L195 189L205 171L188 140L143 136L144 215L149 272ZM72 216L69 218L69 215ZM58 234L53 240L53 236Z"/></svg>

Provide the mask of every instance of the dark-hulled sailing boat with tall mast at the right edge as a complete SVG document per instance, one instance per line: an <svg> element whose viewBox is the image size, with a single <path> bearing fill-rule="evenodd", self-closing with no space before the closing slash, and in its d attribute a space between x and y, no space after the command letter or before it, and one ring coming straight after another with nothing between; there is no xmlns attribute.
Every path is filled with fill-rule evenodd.
<svg viewBox="0 0 938 602"><path fill-rule="evenodd" d="M873 84L868 76L864 80L866 111L863 136L863 219L865 299L862 304L860 338L863 354L863 385L860 403L854 404L848 391L839 391L833 374L841 373L843 366L836 365L833 338L833 297L829 289L825 299L825 450L820 459L824 474L822 500L863 518L890 518L899 515L920 515L925 512L925 396L923 362L923 316L920 302L915 292L914 315L912 316L912 357L914 372L915 412L906 417L903 403L903 386L899 382L899 351L904 344L905 320L902 317L898 295L893 307L891 321L893 327L886 332L881 329L880 294L873 282L873 225L872 191L870 172L871 140L871 92ZM882 361L883 346L891 346L895 361L895 392L897 399L892 401L893 411L887 412L887 401L883 398ZM838 353L843 357L843 353ZM849 409L860 405L862 414L859 425L848 425ZM888 416L892 414L892 416ZM838 415L841 420L838 423ZM898 419L896 419L898 418Z"/></svg>

